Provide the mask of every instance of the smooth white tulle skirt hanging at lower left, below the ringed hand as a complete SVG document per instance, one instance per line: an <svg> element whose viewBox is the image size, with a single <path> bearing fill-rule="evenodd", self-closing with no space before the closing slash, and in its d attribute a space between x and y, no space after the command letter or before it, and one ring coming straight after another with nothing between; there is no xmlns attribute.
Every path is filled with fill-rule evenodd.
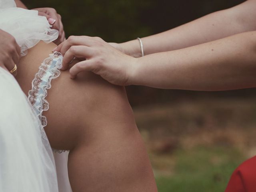
<svg viewBox="0 0 256 192"><path fill-rule="evenodd" d="M12 75L0 68L0 191L58 192L45 132Z"/></svg>

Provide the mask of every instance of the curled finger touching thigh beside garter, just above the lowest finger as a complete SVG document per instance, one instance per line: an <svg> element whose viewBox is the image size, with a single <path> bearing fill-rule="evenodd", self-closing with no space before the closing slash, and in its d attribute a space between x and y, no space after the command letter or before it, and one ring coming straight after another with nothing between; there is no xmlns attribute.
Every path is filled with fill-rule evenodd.
<svg viewBox="0 0 256 192"><path fill-rule="evenodd" d="M77 46L71 46L70 49L66 52L66 54L63 57L62 61L62 70L67 70L68 65L74 57L76 58L90 58L92 55L92 49L90 49L87 46L77 45Z"/></svg>

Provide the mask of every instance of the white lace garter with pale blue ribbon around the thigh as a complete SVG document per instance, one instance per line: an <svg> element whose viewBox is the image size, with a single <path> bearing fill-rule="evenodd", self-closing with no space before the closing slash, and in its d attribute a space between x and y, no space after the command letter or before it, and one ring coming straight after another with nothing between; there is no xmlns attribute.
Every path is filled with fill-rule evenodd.
<svg viewBox="0 0 256 192"><path fill-rule="evenodd" d="M49 103L46 100L47 90L51 88L52 79L60 76L62 68L62 55L60 52L54 52L46 58L39 67L32 81L32 89L28 92L28 101L32 105L36 116L42 124L42 129L47 125L46 117L42 115L44 111L49 110ZM46 133L42 132L42 138L47 140ZM54 152L64 152L66 150L55 150Z"/></svg>

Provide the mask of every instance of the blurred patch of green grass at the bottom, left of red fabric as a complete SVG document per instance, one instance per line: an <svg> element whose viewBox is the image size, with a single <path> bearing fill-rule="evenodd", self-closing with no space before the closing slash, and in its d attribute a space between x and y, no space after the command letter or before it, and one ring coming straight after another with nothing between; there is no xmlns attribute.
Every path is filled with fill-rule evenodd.
<svg viewBox="0 0 256 192"><path fill-rule="evenodd" d="M158 172L159 192L220 192L224 191L230 175L245 159L235 148L198 146L191 150L178 150L173 173Z"/></svg>

